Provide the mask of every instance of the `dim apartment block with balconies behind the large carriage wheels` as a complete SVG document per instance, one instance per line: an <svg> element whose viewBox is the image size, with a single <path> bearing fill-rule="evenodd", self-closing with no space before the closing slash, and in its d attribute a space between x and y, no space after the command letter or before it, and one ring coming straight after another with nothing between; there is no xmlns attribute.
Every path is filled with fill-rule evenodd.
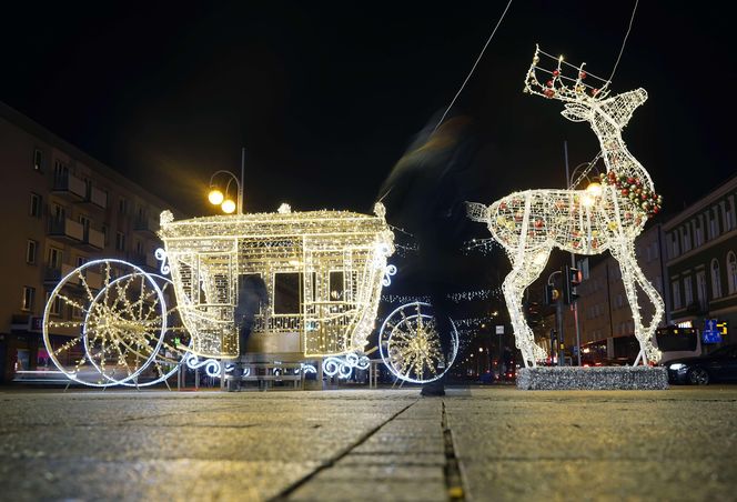
<svg viewBox="0 0 737 502"><path fill-rule="evenodd" d="M41 329L59 281L98 258L154 271L159 214L169 204L0 103L0 381L47 367ZM102 278L88 277L91 288ZM71 294L71 293L70 293ZM51 308L59 321L78 309Z"/></svg>

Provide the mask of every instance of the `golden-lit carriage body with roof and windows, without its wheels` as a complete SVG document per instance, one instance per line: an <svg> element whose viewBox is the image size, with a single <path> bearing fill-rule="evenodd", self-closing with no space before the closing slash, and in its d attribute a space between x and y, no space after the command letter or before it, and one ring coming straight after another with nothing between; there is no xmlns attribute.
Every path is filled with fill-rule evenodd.
<svg viewBox="0 0 737 502"><path fill-rule="evenodd" d="M164 211L159 235L190 352L239 357L239 278L248 275L263 281L269 299L255 314L249 353L296 361L363 351L394 251L384 207L376 204L375 213L282 207L174 221ZM290 284L296 291L285 290ZM290 293L294 301L284 302Z"/></svg>

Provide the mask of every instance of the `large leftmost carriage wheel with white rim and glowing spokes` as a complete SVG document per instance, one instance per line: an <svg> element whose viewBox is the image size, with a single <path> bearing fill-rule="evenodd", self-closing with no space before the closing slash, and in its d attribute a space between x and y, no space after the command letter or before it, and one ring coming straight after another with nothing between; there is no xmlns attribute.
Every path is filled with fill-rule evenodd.
<svg viewBox="0 0 737 502"><path fill-rule="evenodd" d="M43 314L51 361L71 380L92 386L138 383L159 357L166 331L161 288L122 260L95 260L70 272L51 292Z"/></svg>

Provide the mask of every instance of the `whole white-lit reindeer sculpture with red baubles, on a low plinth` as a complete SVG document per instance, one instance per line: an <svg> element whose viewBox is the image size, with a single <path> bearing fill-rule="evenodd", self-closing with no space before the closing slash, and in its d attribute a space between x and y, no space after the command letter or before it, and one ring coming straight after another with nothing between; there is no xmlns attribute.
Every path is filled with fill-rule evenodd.
<svg viewBox="0 0 737 502"><path fill-rule="evenodd" d="M468 203L468 217L485 222L492 235L506 250L512 272L504 280L506 300L516 345L525 365L547 357L535 343L525 322L522 297L545 268L553 248L576 254L599 254L608 250L619 262L635 324L635 335L644 355L652 362L660 359L653 343L655 330L665 311L658 292L647 281L635 257L635 238L647 219L659 211L662 199L655 194L653 181L645 168L627 150L622 130L633 112L647 99L644 89L607 97L608 81L596 89L584 83L584 64L576 68L557 60L557 68L538 66L541 54L554 58L539 48L525 79L525 92L565 102L562 114L574 122L588 122L599 140L606 164L599 193L589 190L526 190L512 193L492 205ZM576 78L563 73L563 64L576 71ZM549 74L545 83L536 72ZM596 78L595 78L596 79ZM589 80L592 80L589 78ZM637 300L637 285L655 307L650 323L645 325ZM638 358L639 360L639 358ZM644 361L645 362L645 361Z"/></svg>

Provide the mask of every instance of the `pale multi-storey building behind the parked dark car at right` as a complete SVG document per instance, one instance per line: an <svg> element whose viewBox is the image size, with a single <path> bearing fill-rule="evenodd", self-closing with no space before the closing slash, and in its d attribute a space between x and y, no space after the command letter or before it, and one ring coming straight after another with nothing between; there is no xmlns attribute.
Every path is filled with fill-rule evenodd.
<svg viewBox="0 0 737 502"><path fill-rule="evenodd" d="M737 340L737 177L665 225L670 321L700 331L707 320L727 323L724 342ZM708 350L708 349L707 349Z"/></svg>

